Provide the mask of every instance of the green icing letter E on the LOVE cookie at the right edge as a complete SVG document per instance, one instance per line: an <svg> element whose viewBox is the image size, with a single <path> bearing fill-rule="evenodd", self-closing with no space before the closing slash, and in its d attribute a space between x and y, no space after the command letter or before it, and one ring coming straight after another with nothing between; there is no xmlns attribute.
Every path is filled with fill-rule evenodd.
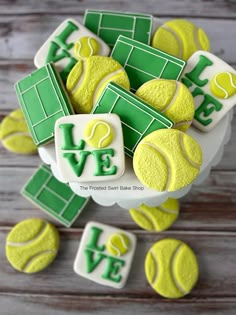
<svg viewBox="0 0 236 315"><path fill-rule="evenodd" d="M209 106L210 105L210 106ZM202 104L195 111L194 118L199 121L202 125L207 126L212 122L211 118L203 119L202 117L209 117L213 111L220 111L222 104L218 102L212 96L205 94Z"/></svg>

